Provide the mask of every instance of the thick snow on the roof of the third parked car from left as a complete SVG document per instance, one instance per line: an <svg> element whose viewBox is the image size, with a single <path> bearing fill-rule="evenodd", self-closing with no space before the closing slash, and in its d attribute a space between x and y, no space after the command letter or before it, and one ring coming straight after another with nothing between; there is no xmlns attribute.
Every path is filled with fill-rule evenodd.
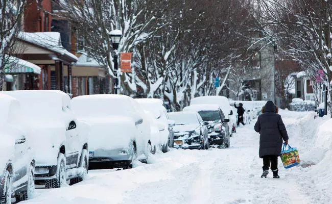
<svg viewBox="0 0 332 204"><path fill-rule="evenodd" d="M131 97L117 94L96 94L77 96L72 99L73 111L78 117L123 115L133 111Z"/></svg>

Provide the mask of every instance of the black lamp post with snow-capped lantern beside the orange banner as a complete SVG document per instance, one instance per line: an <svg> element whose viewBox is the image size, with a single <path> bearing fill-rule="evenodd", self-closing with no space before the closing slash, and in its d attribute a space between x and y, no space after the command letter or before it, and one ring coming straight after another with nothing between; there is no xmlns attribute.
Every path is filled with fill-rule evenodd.
<svg viewBox="0 0 332 204"><path fill-rule="evenodd" d="M111 41L112 41L112 45L113 45L113 49L114 49L114 55L113 55L113 62L114 62L114 94L117 94L117 89L120 88L118 87L118 64L117 64L117 56L118 56L118 43L120 42L121 38L122 38L122 31L120 30L113 30L110 32L110 37L111 37Z"/></svg>

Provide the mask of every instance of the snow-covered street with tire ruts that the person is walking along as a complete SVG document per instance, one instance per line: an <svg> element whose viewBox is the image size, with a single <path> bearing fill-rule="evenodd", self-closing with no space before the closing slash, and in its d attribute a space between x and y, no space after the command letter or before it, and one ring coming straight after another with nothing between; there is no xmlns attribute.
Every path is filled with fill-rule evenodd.
<svg viewBox="0 0 332 204"><path fill-rule="evenodd" d="M280 111L290 144L309 151L313 113ZM229 149L176 150L156 154L150 164L129 170L91 170L89 178L74 186L38 189L35 199L23 203L329 203L330 189L323 189L317 168L284 169L280 179L261 179L259 136L255 120L241 126ZM316 120L315 120L316 122ZM303 165L303 162L302 162ZM326 179L328 179L326 177Z"/></svg>

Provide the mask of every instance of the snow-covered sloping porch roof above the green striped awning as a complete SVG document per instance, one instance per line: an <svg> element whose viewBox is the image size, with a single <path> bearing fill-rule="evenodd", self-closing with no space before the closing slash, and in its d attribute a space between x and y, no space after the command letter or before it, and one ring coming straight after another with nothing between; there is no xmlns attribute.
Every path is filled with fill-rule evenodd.
<svg viewBox="0 0 332 204"><path fill-rule="evenodd" d="M18 38L39 45L46 49L52 50L53 52L56 52L58 54L65 55L75 62L78 60L78 58L75 55L69 53L68 50L66 50L62 46L60 33L58 32L42 32L42 33L20 32Z"/></svg>

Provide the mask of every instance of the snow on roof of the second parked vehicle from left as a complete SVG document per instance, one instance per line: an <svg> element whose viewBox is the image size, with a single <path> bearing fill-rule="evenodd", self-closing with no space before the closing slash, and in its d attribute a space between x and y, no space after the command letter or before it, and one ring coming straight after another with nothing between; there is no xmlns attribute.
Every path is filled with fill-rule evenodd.
<svg viewBox="0 0 332 204"><path fill-rule="evenodd" d="M57 117L63 109L70 109L70 97L59 90L4 91L20 101L22 112L29 117Z"/></svg>

